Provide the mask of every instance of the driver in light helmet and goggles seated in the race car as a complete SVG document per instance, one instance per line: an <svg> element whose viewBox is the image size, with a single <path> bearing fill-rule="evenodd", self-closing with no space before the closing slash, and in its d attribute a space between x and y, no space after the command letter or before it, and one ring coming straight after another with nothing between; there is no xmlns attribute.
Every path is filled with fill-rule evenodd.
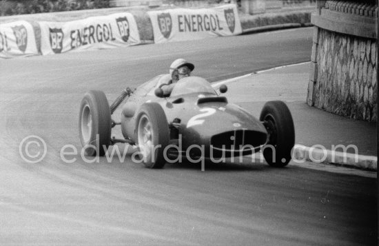
<svg viewBox="0 0 379 246"><path fill-rule="evenodd" d="M170 96L172 89L174 89L175 83L178 82L179 79L191 76L191 72L194 68L194 64L185 61L185 59L180 58L172 62L169 70L171 80L167 84L161 85L163 94L165 96Z"/></svg>

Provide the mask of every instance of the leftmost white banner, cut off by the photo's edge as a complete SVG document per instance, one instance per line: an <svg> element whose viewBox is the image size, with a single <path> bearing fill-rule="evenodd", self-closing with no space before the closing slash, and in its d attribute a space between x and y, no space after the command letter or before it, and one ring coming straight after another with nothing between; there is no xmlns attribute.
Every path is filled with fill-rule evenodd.
<svg viewBox="0 0 379 246"><path fill-rule="evenodd" d="M0 25L0 57L26 57L37 55L33 26L27 21Z"/></svg>

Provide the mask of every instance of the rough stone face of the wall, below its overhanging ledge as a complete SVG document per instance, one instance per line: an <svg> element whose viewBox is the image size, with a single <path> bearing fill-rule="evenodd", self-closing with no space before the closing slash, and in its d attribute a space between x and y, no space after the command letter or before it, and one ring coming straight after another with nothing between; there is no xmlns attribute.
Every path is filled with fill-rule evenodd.
<svg viewBox="0 0 379 246"><path fill-rule="evenodd" d="M314 106L376 120L376 40L320 30Z"/></svg>

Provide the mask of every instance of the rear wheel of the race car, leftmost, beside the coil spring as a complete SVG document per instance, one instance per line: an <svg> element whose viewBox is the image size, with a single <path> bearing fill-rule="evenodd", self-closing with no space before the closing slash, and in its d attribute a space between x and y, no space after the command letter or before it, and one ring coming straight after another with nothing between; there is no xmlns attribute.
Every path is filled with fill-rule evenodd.
<svg viewBox="0 0 379 246"><path fill-rule="evenodd" d="M79 137L83 147L86 147L85 154L88 156L103 156L110 145L110 135L112 132L112 119L110 116L110 106L104 92L90 90L85 93L81 100L79 113ZM99 134L99 139L96 135ZM98 145L99 143L99 145Z"/></svg>

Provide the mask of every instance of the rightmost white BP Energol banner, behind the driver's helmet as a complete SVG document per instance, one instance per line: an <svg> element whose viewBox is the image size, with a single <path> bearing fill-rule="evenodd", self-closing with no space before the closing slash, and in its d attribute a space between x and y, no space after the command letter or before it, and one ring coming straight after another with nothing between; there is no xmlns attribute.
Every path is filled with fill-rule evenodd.
<svg viewBox="0 0 379 246"><path fill-rule="evenodd" d="M155 43L232 36L242 32L235 4L196 10L149 11L147 14L152 21Z"/></svg>

